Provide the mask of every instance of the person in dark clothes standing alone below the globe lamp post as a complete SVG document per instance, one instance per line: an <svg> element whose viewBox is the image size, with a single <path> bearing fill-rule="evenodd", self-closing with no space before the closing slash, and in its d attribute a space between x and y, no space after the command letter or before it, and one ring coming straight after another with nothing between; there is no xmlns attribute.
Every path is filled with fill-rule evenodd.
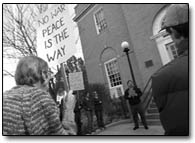
<svg viewBox="0 0 195 143"><path fill-rule="evenodd" d="M127 85L128 85L128 89L126 89L126 91L125 91L125 98L129 101L131 111L133 114L133 121L135 124L135 127L133 128L133 130L136 130L139 128L138 114L141 117L144 128L148 129L144 110L143 110L141 100L140 100L140 97L142 96L142 92L139 88L137 88L133 85L131 80L129 80L127 82Z"/></svg>

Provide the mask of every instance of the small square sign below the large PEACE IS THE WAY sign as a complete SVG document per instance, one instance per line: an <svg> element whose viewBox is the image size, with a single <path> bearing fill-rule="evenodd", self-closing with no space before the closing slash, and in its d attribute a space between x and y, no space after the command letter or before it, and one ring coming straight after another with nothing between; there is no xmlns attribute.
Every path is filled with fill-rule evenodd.
<svg viewBox="0 0 195 143"><path fill-rule="evenodd" d="M71 90L83 90L84 89L83 73L82 72L69 73L69 84Z"/></svg>

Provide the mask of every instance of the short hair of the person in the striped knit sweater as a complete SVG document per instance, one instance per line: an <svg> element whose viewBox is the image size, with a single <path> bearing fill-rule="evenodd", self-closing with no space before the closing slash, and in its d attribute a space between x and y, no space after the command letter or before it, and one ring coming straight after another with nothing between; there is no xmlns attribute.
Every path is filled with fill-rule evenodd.
<svg viewBox="0 0 195 143"><path fill-rule="evenodd" d="M42 74L47 75L48 64L36 56L22 58L16 68L15 81L17 85L33 86L37 82L44 83Z"/></svg>

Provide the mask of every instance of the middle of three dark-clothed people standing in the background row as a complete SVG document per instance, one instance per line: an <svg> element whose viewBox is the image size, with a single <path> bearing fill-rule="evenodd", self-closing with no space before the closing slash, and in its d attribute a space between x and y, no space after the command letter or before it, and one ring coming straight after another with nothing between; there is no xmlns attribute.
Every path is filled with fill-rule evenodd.
<svg viewBox="0 0 195 143"><path fill-rule="evenodd" d="M93 106L89 93L87 93L83 100L83 109L85 110L88 120L88 134L91 134L93 131Z"/></svg>

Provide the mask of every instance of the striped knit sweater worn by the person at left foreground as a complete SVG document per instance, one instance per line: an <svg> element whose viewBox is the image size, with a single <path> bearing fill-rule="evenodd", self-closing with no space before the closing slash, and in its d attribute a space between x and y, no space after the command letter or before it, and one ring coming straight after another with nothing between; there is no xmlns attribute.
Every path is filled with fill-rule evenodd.
<svg viewBox="0 0 195 143"><path fill-rule="evenodd" d="M16 86L3 94L3 135L75 134L67 126L61 123L52 97L42 89Z"/></svg>

